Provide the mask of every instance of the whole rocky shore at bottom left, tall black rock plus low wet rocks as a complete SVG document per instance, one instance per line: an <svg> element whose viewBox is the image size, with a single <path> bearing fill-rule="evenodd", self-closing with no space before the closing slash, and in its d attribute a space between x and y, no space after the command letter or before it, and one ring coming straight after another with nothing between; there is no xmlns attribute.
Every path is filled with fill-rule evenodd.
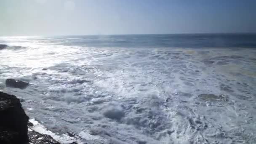
<svg viewBox="0 0 256 144"><path fill-rule="evenodd" d="M32 124L20 100L1 91L0 117L0 144L60 144L49 135L29 129Z"/></svg>

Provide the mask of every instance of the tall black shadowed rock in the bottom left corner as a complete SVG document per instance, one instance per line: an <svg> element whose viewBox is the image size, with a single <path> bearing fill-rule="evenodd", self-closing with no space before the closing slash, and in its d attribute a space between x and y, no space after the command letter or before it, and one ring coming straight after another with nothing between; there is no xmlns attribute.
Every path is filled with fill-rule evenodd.
<svg viewBox="0 0 256 144"><path fill-rule="evenodd" d="M28 142L28 120L20 100L16 96L0 92L0 144Z"/></svg>

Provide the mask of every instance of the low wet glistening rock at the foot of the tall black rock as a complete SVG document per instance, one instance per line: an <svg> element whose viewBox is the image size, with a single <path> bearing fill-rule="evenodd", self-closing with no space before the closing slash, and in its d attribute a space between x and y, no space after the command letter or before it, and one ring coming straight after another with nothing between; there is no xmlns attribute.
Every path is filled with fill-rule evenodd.
<svg viewBox="0 0 256 144"><path fill-rule="evenodd" d="M29 131L29 141L33 144L60 144L58 141L53 139L53 137L47 135L38 133L36 131Z"/></svg>

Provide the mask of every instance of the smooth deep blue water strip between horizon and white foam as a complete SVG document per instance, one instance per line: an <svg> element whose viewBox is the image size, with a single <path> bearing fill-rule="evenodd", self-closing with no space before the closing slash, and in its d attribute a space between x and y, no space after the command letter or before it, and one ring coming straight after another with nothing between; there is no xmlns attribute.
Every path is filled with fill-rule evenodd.
<svg viewBox="0 0 256 144"><path fill-rule="evenodd" d="M255 48L256 34L162 34L59 36L64 45L88 47ZM67 39L67 41L64 41Z"/></svg>

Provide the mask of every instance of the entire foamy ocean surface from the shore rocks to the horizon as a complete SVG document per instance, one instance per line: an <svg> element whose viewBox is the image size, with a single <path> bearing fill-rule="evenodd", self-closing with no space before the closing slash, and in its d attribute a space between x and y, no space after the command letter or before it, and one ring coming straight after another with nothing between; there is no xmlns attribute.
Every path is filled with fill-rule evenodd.
<svg viewBox="0 0 256 144"><path fill-rule="evenodd" d="M256 34L0 37L0 90L61 143L256 144ZM29 82L5 86L7 78ZM71 134L72 133L72 134Z"/></svg>

